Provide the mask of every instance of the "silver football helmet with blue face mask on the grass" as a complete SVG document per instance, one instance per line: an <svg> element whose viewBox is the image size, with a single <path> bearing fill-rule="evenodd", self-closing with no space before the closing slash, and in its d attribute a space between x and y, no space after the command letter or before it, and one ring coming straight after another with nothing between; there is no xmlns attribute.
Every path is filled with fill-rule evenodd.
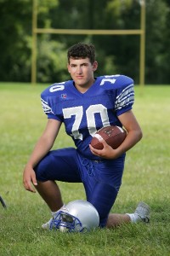
<svg viewBox="0 0 170 256"><path fill-rule="evenodd" d="M99 213L88 201L71 201L57 212L50 229L61 232L84 232L99 226Z"/></svg>

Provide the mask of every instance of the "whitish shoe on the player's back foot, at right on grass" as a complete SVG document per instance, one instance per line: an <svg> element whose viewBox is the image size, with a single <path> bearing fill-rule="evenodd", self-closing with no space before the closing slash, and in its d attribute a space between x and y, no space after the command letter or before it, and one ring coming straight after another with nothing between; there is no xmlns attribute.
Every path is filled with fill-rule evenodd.
<svg viewBox="0 0 170 256"><path fill-rule="evenodd" d="M150 207L143 201L139 202L134 214L137 214L139 218L145 223L150 222Z"/></svg>

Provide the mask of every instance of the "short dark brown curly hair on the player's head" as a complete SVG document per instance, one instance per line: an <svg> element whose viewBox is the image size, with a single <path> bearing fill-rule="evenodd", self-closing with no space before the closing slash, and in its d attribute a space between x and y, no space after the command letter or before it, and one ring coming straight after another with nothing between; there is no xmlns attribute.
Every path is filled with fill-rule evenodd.
<svg viewBox="0 0 170 256"><path fill-rule="evenodd" d="M89 58L90 62L93 64L95 61L95 47L94 44L83 44L78 43L71 46L67 52L68 62L70 59L85 59Z"/></svg>

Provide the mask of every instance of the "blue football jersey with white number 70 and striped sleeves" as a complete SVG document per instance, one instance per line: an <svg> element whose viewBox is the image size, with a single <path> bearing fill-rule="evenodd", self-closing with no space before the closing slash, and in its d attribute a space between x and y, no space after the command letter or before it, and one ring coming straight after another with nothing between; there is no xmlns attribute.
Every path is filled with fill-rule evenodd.
<svg viewBox="0 0 170 256"><path fill-rule="evenodd" d="M77 150L85 157L98 159L90 152L89 143L101 127L122 126L117 116L133 106L133 79L124 75L100 76L85 93L69 80L52 84L41 96L48 119L63 122Z"/></svg>

